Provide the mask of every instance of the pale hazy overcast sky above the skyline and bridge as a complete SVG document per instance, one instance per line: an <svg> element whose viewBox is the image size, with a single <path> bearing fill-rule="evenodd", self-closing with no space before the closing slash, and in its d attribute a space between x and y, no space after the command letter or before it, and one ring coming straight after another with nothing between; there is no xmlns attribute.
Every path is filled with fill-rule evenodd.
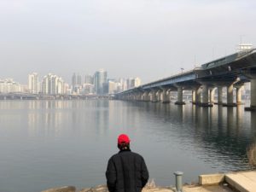
<svg viewBox="0 0 256 192"><path fill-rule="evenodd" d="M255 0L0 0L0 79L55 73L143 83L256 45Z"/></svg>

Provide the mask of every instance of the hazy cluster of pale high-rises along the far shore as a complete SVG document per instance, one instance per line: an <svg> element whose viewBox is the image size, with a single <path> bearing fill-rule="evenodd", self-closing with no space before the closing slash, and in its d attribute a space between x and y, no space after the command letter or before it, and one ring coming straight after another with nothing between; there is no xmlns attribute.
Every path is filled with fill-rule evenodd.
<svg viewBox="0 0 256 192"><path fill-rule="evenodd" d="M112 95L141 85L139 78L108 79L108 73L99 69L93 75L73 73L71 84L53 73L39 79L38 73L28 74L27 84L13 79L0 79L0 94L29 93L43 95Z"/></svg>

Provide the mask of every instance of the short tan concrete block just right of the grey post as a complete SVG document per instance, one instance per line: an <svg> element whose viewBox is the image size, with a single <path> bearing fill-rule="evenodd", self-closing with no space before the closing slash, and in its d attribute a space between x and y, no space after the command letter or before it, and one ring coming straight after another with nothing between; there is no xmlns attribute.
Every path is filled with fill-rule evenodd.
<svg viewBox="0 0 256 192"><path fill-rule="evenodd" d="M211 175L200 175L199 176L199 184L200 185L212 185L224 182L224 174L217 173Z"/></svg>

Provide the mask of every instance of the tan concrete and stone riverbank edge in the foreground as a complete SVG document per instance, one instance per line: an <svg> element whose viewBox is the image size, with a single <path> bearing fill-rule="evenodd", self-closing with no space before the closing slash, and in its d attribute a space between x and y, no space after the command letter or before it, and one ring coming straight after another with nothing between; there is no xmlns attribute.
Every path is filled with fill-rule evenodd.
<svg viewBox="0 0 256 192"><path fill-rule="evenodd" d="M143 192L175 192L173 187L158 187L152 183ZM196 185L183 185L183 192L256 192L256 171L231 172L199 176ZM47 189L42 192L108 192L106 185L76 190L73 186Z"/></svg>

